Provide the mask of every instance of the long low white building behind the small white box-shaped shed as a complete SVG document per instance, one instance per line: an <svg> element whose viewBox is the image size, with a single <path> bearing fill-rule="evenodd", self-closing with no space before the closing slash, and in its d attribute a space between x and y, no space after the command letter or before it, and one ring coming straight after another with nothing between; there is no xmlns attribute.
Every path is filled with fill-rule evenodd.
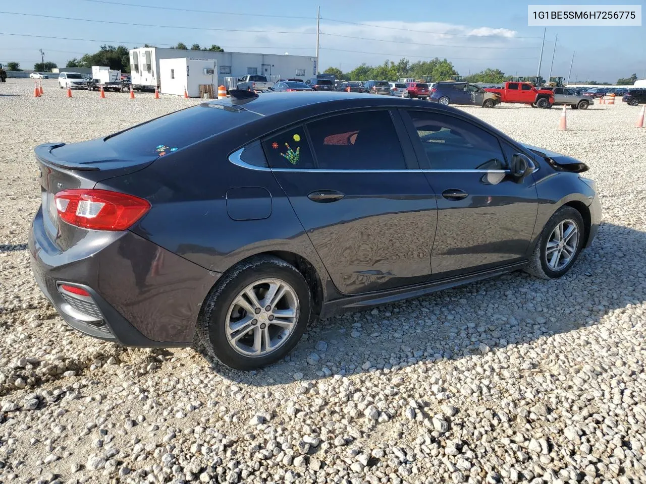
<svg viewBox="0 0 646 484"><path fill-rule="evenodd" d="M247 74L267 76L267 80L316 76L316 57L284 54L249 54L246 52L212 52L210 50L180 50L159 47L140 47L130 50L130 77L135 89L161 87L161 59L213 59L217 63L214 84L225 85L227 77L238 79ZM167 74L164 74L167 76Z"/></svg>

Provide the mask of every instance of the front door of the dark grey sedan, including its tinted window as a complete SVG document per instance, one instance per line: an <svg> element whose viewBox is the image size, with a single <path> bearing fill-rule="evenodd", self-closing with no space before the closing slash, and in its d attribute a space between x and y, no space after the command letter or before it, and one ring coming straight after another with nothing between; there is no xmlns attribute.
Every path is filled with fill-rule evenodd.
<svg viewBox="0 0 646 484"><path fill-rule="evenodd" d="M532 177L508 174L510 153L485 128L430 111L409 111L420 165L437 194L433 277L519 261L534 232Z"/></svg>

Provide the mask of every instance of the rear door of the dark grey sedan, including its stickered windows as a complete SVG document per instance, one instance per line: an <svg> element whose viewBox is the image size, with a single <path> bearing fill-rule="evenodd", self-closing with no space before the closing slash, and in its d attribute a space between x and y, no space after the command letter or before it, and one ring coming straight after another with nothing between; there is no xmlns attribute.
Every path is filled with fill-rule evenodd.
<svg viewBox="0 0 646 484"><path fill-rule="evenodd" d="M307 134L297 126L264 141L278 183L346 294L430 277L435 195L423 174L409 169L410 140L402 132L402 151L391 116L399 114L350 112L310 121Z"/></svg>

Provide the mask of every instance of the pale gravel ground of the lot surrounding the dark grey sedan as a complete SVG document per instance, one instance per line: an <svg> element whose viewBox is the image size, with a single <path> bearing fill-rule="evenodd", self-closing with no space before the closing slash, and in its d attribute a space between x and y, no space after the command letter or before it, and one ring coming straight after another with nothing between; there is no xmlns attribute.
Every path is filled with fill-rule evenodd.
<svg viewBox="0 0 646 484"><path fill-rule="evenodd" d="M198 99L0 85L0 482L646 481L646 129L623 104L466 108L579 157L603 224L558 281L523 273L317 323L242 373L68 328L32 282L33 148Z"/></svg>

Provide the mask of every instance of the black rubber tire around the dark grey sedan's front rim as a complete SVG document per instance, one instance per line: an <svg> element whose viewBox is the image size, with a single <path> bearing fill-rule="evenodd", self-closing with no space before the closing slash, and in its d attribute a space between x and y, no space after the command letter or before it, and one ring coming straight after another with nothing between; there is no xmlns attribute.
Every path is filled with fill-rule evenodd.
<svg viewBox="0 0 646 484"><path fill-rule="evenodd" d="M547 265L547 243L548 238L554 231L554 228L564 220L572 220L576 223L579 230L579 237L576 250L574 251L574 255L570 257L570 261L565 265L565 267L555 271ZM583 248L584 239L585 225L583 225L583 217L581 217L579 211L576 210L576 208L572 208L567 205L559 208L545 224L543 232L541 232L538 242L536 243L534 254L530 257L530 263L525 267L525 272L532 274L532 276L539 277L540 279L557 279L558 277L563 276L572 268L576 259L579 257L581 248Z"/></svg>

